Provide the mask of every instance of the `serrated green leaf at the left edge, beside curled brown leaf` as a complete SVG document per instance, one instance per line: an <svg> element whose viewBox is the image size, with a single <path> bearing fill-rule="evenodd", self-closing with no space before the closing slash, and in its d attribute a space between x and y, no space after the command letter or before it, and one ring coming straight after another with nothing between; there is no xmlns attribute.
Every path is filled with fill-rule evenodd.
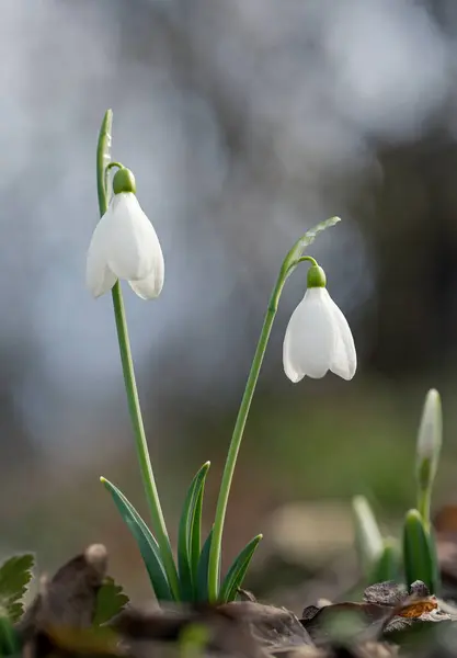
<svg viewBox="0 0 457 658"><path fill-rule="evenodd" d="M34 556L14 555L0 567L0 616L16 622L22 613L22 597L32 579Z"/></svg>

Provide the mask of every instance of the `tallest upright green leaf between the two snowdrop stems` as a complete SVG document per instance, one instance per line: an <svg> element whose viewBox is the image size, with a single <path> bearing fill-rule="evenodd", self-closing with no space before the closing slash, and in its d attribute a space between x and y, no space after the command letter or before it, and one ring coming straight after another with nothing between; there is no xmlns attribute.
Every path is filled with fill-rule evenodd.
<svg viewBox="0 0 457 658"><path fill-rule="evenodd" d="M178 564L183 601L192 601L196 592L201 551L202 504L209 462L195 475L185 497L178 534Z"/></svg>

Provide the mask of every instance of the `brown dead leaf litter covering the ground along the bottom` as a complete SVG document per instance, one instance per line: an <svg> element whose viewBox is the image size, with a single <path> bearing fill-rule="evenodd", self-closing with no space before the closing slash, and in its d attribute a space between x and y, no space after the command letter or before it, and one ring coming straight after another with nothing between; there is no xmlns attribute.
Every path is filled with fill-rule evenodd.
<svg viewBox="0 0 457 658"><path fill-rule="evenodd" d="M42 577L14 623L24 658L457 658L457 608L416 581L368 587L362 601L320 602L301 617L247 591L220 605L137 609L94 544ZM439 629L439 632L438 632Z"/></svg>

